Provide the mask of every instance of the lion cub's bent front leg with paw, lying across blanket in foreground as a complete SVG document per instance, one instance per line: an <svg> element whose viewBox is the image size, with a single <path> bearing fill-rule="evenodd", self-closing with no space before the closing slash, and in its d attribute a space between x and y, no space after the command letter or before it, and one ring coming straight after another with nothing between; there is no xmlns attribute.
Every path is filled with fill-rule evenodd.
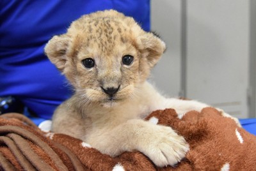
<svg viewBox="0 0 256 171"><path fill-rule="evenodd" d="M140 119L129 120L111 130L102 129L88 138L88 143L111 156L138 150L158 167L175 165L189 150L186 140L172 128Z"/></svg>

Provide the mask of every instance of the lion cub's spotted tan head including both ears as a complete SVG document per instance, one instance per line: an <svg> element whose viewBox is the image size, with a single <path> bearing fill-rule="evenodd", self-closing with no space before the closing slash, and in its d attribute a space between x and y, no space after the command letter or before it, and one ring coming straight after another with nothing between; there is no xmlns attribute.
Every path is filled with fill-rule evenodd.
<svg viewBox="0 0 256 171"><path fill-rule="evenodd" d="M87 101L118 103L136 93L165 44L117 11L99 11L54 36L45 54Z"/></svg>

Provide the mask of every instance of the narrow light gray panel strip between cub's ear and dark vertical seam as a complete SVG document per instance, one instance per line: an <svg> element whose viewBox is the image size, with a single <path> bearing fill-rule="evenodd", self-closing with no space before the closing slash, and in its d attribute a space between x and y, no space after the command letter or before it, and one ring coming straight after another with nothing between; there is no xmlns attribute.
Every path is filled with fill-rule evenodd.
<svg viewBox="0 0 256 171"><path fill-rule="evenodd" d="M168 96L180 91L180 1L152 0L152 31L160 34L167 50L152 72L152 82Z"/></svg>

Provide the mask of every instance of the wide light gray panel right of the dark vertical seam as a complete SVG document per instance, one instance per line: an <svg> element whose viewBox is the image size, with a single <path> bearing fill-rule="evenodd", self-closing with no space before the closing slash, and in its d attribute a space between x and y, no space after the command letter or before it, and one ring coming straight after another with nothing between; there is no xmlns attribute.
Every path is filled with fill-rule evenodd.
<svg viewBox="0 0 256 171"><path fill-rule="evenodd" d="M188 97L247 117L249 1L187 3Z"/></svg>

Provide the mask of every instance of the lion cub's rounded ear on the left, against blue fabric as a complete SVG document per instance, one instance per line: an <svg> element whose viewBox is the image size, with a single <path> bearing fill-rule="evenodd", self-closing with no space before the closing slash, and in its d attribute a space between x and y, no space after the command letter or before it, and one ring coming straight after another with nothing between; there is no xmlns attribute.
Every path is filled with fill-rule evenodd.
<svg viewBox="0 0 256 171"><path fill-rule="evenodd" d="M46 56L61 72L64 70L65 63L67 62L67 47L69 40L70 38L68 38L66 34L54 36L48 41L44 48Z"/></svg>

